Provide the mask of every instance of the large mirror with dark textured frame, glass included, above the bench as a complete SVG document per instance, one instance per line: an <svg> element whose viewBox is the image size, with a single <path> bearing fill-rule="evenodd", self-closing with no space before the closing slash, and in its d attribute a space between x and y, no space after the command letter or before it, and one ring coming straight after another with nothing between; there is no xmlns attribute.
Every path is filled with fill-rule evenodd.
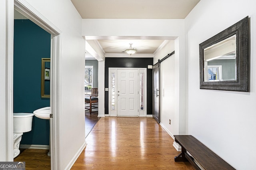
<svg viewBox="0 0 256 170"><path fill-rule="evenodd" d="M199 44L200 89L250 91L248 20Z"/></svg>

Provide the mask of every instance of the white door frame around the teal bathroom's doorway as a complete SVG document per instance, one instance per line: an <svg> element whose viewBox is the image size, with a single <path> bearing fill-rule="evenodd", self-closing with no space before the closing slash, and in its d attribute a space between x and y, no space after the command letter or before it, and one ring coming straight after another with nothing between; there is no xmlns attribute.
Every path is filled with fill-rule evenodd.
<svg viewBox="0 0 256 170"><path fill-rule="evenodd" d="M60 140L59 140L59 114L61 112L61 85L60 85L60 34L56 26L48 21L42 14L34 9L25 0L6 0L6 160L13 161L13 49L14 49L14 8L32 22L51 34L51 82L50 82L50 107L53 118L50 119L50 145L51 169L59 169L60 165Z"/></svg>

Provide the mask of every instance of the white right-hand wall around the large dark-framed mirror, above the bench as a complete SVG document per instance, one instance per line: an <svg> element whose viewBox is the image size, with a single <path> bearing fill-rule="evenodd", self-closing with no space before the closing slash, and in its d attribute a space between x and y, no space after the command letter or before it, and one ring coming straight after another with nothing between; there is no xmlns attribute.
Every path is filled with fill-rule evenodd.
<svg viewBox="0 0 256 170"><path fill-rule="evenodd" d="M256 167L256 1L201 0L185 19L188 132L239 170ZM199 88L199 44L250 18L250 93Z"/></svg>

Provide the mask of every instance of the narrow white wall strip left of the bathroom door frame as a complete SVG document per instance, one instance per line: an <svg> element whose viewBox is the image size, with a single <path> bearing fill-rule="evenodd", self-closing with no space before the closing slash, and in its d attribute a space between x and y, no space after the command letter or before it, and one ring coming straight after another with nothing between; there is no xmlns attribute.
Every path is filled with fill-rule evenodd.
<svg viewBox="0 0 256 170"><path fill-rule="evenodd" d="M6 160L6 1L0 1L0 161Z"/></svg>

